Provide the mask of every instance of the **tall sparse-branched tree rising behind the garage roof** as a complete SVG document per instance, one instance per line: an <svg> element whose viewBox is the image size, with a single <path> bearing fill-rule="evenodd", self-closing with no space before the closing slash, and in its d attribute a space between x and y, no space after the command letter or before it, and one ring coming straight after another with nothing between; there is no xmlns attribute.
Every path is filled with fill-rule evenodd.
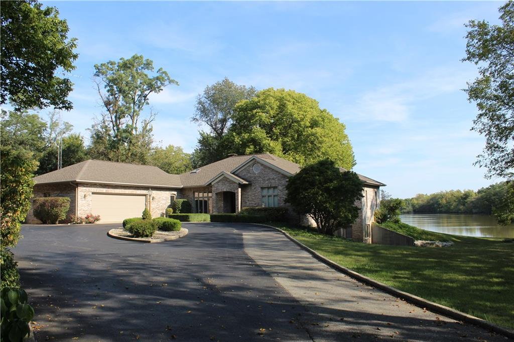
<svg viewBox="0 0 514 342"><path fill-rule="evenodd" d="M90 154L98 159L147 163L156 113L151 109L148 118L140 121L141 113L149 105L150 94L178 82L162 68L151 75L153 62L137 54L97 64L95 70L94 81L105 112L91 127Z"/></svg>

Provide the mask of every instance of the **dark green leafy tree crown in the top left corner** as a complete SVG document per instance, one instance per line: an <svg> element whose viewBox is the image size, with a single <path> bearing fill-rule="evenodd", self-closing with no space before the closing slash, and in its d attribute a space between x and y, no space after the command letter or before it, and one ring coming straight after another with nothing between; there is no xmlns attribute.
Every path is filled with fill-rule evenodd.
<svg viewBox="0 0 514 342"><path fill-rule="evenodd" d="M0 104L12 101L17 109L71 109L67 100L72 83L56 75L75 69L76 39L68 39L68 24L55 7L37 1L2 2L0 41Z"/></svg>

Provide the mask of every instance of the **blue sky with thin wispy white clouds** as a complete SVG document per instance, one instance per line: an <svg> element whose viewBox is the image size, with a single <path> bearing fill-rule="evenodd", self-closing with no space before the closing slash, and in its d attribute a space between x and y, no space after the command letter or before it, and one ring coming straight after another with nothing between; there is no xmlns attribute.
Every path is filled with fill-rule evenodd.
<svg viewBox="0 0 514 342"><path fill-rule="evenodd" d="M501 2L43 2L78 39L69 78L74 109L63 120L87 142L102 113L94 65L142 54L168 71L150 99L158 144L191 152L196 96L225 77L237 84L293 89L346 125L354 171L394 197L478 189L473 166L484 137L473 131L465 56L472 19L499 23ZM46 112L42 112L43 117Z"/></svg>

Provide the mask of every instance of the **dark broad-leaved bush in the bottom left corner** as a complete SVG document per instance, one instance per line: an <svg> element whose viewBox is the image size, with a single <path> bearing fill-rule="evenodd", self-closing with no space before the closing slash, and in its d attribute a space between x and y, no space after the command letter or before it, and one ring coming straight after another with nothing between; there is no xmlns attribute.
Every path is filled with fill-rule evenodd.
<svg viewBox="0 0 514 342"><path fill-rule="evenodd" d="M34 309L27 304L24 290L5 288L0 292L2 341L21 342L30 335L29 322L34 317Z"/></svg>

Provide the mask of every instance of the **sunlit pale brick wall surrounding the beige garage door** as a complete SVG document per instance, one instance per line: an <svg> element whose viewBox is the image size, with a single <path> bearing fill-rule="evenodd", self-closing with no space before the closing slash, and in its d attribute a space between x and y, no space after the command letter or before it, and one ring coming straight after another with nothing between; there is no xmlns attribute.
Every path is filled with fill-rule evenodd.
<svg viewBox="0 0 514 342"><path fill-rule="evenodd" d="M150 187L125 186L112 184L79 184L79 213L78 216L86 216L91 213L91 194L141 194L146 195L146 207L150 208L152 217L159 217L166 212L166 208L171 204L172 196L180 197L180 189L154 188L152 187L152 197L149 201Z"/></svg>

